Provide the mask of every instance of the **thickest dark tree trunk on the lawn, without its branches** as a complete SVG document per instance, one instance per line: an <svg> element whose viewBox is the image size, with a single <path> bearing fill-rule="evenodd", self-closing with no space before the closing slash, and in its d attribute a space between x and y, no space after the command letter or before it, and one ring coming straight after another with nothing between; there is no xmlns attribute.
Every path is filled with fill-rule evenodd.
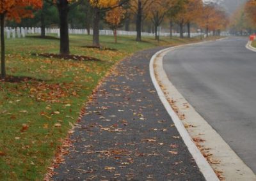
<svg viewBox="0 0 256 181"><path fill-rule="evenodd" d="M58 5L60 17L60 54L69 54L69 37L68 37L68 1L61 1Z"/></svg>

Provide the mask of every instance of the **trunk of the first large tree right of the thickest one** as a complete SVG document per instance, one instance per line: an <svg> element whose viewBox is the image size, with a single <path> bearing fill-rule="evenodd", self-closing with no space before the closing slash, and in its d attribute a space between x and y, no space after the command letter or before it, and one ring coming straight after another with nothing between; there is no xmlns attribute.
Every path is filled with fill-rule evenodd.
<svg viewBox="0 0 256 181"><path fill-rule="evenodd" d="M100 10L93 8L93 43L95 47L100 47Z"/></svg>

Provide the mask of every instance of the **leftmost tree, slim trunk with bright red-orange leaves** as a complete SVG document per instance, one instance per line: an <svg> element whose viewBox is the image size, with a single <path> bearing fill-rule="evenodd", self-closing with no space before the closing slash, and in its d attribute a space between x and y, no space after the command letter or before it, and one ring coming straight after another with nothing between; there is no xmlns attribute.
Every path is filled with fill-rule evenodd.
<svg viewBox="0 0 256 181"><path fill-rule="evenodd" d="M31 8L41 8L41 0L1 0L0 1L0 25L1 25L1 78L6 78L5 69L5 44L4 44L4 20L8 18L20 22L21 18L33 17Z"/></svg>

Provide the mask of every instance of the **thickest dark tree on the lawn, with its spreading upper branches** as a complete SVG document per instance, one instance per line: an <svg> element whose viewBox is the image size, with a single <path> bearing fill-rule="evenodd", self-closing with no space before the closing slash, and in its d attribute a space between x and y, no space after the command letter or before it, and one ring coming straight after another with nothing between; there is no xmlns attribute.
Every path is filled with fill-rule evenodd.
<svg viewBox="0 0 256 181"><path fill-rule="evenodd" d="M68 12L77 5L83 3L83 0L45 0L48 3L54 4L59 13L60 19L60 54L67 55L69 51L69 36L68 36Z"/></svg>

